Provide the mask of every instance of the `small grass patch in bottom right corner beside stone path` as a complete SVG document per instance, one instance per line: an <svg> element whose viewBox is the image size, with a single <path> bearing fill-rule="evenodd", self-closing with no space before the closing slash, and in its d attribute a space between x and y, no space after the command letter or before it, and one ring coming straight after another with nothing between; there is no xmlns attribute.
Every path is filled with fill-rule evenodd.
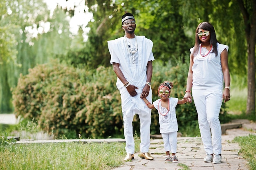
<svg viewBox="0 0 256 170"><path fill-rule="evenodd" d="M256 135L249 134L249 136L235 137L234 142L238 142L240 146L240 153L248 161L250 170L256 169Z"/></svg>

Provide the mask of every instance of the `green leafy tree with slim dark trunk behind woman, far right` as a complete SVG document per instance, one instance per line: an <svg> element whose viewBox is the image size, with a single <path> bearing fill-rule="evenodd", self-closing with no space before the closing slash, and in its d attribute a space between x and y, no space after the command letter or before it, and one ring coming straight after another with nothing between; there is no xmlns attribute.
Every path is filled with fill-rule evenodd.
<svg viewBox="0 0 256 170"><path fill-rule="evenodd" d="M187 27L195 28L196 22L209 21L217 29L219 40L229 45L231 74L244 76L247 73L246 113L255 114L256 1L203 0L200 3L183 3L184 19L190 18L184 21ZM243 56L247 56L247 60Z"/></svg>

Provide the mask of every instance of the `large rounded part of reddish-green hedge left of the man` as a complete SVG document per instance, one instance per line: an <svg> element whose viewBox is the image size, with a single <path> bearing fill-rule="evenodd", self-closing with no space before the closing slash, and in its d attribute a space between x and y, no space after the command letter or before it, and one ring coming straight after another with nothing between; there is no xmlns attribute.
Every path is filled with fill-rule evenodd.
<svg viewBox="0 0 256 170"><path fill-rule="evenodd" d="M122 134L119 91L111 68L94 73L53 62L29 69L13 90L17 116L38 121L45 132L108 137ZM118 107L117 107L118 106ZM97 128L96 128L97 127Z"/></svg>

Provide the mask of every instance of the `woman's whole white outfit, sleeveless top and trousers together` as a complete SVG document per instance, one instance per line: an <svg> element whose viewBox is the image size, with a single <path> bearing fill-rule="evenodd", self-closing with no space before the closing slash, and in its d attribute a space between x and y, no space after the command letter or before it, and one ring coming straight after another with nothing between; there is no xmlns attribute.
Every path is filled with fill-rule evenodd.
<svg viewBox="0 0 256 170"><path fill-rule="evenodd" d="M201 44L200 44L201 47ZM218 56L212 51L202 57L200 49L193 58L192 96L198 113L198 123L204 150L208 154L221 154L220 108L222 105L223 73L220 53L229 49L227 45L217 44ZM194 48L191 48L191 53ZM205 49L204 49L205 50ZM212 135L212 138L211 138Z"/></svg>

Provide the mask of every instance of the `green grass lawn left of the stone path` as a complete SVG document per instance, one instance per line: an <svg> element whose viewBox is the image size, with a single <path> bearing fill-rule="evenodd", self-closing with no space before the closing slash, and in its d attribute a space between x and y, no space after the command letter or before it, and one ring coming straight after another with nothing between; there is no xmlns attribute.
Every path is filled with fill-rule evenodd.
<svg viewBox="0 0 256 170"><path fill-rule="evenodd" d="M125 143L0 146L1 170L110 170L123 163ZM136 150L138 152L138 150ZM68 160L68 161L67 161Z"/></svg>

